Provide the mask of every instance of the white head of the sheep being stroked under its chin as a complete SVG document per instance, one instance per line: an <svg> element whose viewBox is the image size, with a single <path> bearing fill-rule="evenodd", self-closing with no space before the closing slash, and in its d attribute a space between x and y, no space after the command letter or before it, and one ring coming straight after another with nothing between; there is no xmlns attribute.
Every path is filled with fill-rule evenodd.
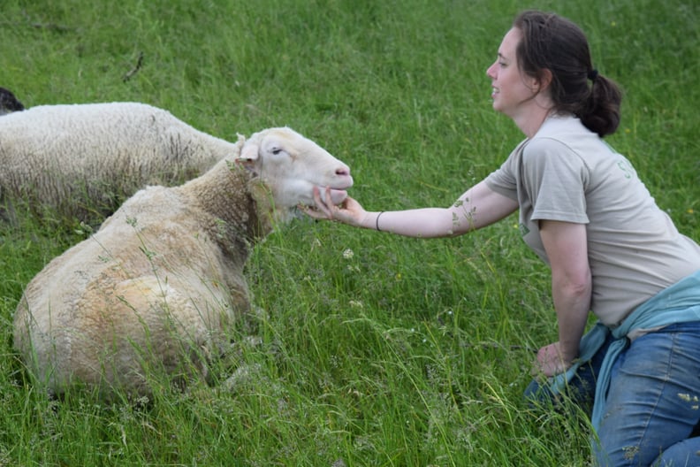
<svg viewBox="0 0 700 467"><path fill-rule="evenodd" d="M290 128L269 128L250 136L240 149L239 162L269 187L275 211L299 204L314 206L314 187L331 188L331 201L342 203L353 186L350 168L316 142Z"/></svg>

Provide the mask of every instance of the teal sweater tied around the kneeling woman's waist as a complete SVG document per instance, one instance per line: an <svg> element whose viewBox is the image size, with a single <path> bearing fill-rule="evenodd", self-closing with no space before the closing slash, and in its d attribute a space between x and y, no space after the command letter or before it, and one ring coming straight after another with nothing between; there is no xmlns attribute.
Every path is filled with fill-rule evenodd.
<svg viewBox="0 0 700 467"><path fill-rule="evenodd" d="M610 387L612 365L620 353L628 347L628 334L635 329L653 329L689 321L700 321L700 271L679 280L673 286L666 287L657 295L643 302L629 314L628 318L625 318L621 325L614 329L597 322L582 337L579 345L579 357L574 361L574 364L566 372L550 379L549 388L552 394L560 394L564 391L567 383L574 378L579 366L590 361L597 350L603 346L608 334L612 333L614 341L605 354L597 377L593 415L590 419L597 432L605 415L605 399L608 387Z"/></svg>

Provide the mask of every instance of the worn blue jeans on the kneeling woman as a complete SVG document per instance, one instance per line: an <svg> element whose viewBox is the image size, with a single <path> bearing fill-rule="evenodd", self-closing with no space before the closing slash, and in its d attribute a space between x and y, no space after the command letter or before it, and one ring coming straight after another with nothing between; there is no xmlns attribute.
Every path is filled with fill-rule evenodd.
<svg viewBox="0 0 700 467"><path fill-rule="evenodd" d="M609 343L609 342L608 342ZM607 343L606 343L607 344ZM607 345L582 365L567 395L587 406ZM525 396L553 402L533 381ZM668 325L632 341L612 368L605 417L591 441L600 467L700 466L700 322Z"/></svg>

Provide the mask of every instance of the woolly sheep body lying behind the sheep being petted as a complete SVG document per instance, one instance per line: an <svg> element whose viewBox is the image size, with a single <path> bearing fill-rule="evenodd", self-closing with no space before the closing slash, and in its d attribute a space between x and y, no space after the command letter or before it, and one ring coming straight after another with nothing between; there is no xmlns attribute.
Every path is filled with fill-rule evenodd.
<svg viewBox="0 0 700 467"><path fill-rule="evenodd" d="M0 197L101 221L136 190L190 180L233 149L144 103L39 105L0 118Z"/></svg>

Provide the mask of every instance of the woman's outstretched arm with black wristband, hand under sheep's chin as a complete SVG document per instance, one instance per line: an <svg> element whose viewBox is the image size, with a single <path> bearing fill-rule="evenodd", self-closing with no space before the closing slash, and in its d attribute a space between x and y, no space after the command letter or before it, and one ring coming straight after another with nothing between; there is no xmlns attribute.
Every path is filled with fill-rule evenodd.
<svg viewBox="0 0 700 467"><path fill-rule="evenodd" d="M330 196L325 199L330 199ZM447 208L369 212L353 198L347 198L339 206L323 203L318 193L316 207L317 211L307 211L313 218L336 219L351 226L407 237L438 238L489 226L518 209L518 203L491 190L481 181Z"/></svg>

